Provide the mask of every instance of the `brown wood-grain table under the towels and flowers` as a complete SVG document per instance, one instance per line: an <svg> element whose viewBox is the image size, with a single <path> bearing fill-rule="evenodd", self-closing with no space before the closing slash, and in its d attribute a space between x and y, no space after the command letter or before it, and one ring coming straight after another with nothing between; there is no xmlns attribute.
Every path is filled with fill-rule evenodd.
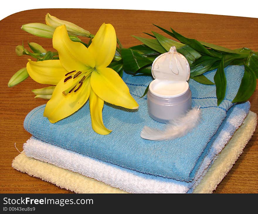
<svg viewBox="0 0 258 214"><path fill-rule="evenodd" d="M68 20L95 34L99 26L111 23L124 47L138 45L140 42L131 35L147 37L142 32L152 30L161 33L152 25L169 29L188 38L231 49L249 47L258 51L258 19L233 16L217 16L194 13L174 13L159 11L100 10L100 9L38 9L15 13L0 21L0 66L1 66L1 162L0 193L70 193L41 179L28 176L11 167L11 162L21 151L22 145L30 137L23 128L23 120L33 108L44 104L43 99L34 99L32 89L42 85L28 78L21 84L8 88L11 76L26 66L27 57L15 54L16 45L24 41L41 44L47 50L53 50L51 39L39 38L26 33L20 27L25 23L45 23L46 13ZM163 34L163 33L161 33ZM164 34L163 34L164 35ZM258 113L258 93L249 99L251 110ZM215 193L258 193L258 139L257 130L245 147L228 175L218 185Z"/></svg>

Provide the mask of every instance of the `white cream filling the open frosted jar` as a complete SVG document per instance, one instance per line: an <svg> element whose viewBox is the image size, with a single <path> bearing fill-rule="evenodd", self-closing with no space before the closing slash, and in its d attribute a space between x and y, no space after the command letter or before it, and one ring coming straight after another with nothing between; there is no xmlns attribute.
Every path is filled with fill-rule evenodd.
<svg viewBox="0 0 258 214"><path fill-rule="evenodd" d="M181 96L186 93L188 88L187 81L165 81L160 79L153 80L149 86L152 94L164 98Z"/></svg>

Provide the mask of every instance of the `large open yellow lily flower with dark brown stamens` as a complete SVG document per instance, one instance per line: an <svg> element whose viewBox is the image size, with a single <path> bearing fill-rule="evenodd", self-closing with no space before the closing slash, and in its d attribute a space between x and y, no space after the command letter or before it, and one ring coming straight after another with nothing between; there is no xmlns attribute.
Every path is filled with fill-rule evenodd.
<svg viewBox="0 0 258 214"><path fill-rule="evenodd" d="M56 85L44 111L51 123L76 112L89 99L92 128L96 133L107 135L111 130L102 120L104 101L138 108L120 76L107 67L116 51L116 32L111 24L101 25L88 48L71 41L65 25L59 26L53 34L53 47L58 51L59 60L27 63L33 80Z"/></svg>

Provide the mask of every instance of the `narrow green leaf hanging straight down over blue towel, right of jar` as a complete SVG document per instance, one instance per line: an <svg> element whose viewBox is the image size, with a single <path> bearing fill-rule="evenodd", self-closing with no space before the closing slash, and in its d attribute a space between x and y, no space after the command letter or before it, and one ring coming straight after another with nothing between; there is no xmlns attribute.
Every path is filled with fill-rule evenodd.
<svg viewBox="0 0 258 214"><path fill-rule="evenodd" d="M216 96L218 106L223 101L226 94L227 80L224 72L224 58L220 61L219 67L214 75L216 84Z"/></svg>

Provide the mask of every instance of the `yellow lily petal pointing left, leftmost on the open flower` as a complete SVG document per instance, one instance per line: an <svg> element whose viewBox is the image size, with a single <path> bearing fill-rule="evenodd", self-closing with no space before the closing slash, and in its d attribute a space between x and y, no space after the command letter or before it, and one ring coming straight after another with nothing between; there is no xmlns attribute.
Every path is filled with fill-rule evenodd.
<svg viewBox="0 0 258 214"><path fill-rule="evenodd" d="M45 60L34 62L28 59L27 72L30 77L41 84L57 85L65 76L67 70L61 65L60 60Z"/></svg>

